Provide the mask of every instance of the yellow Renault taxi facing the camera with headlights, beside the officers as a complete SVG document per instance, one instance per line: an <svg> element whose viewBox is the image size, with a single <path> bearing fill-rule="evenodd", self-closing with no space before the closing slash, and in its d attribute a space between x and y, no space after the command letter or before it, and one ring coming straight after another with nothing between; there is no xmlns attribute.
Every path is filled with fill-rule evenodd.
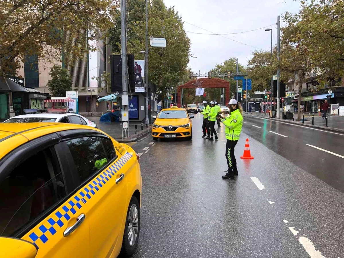
<svg viewBox="0 0 344 258"><path fill-rule="evenodd" d="M192 139L192 118L185 108L171 107L162 109L152 125L153 140L159 138Z"/></svg>

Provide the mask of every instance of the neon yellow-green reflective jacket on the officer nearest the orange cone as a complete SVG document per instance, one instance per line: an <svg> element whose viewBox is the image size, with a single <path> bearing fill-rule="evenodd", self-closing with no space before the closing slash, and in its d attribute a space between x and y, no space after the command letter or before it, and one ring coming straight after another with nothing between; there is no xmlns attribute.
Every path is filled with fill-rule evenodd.
<svg viewBox="0 0 344 258"><path fill-rule="evenodd" d="M241 128L243 127L243 116L239 109L235 109L230 112L230 116L221 120L226 126L225 134L226 139L231 141L237 141L240 137Z"/></svg>

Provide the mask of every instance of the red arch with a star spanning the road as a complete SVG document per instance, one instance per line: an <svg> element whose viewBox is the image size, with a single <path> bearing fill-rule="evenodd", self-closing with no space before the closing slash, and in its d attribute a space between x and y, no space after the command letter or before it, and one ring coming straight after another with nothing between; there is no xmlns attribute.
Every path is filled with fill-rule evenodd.
<svg viewBox="0 0 344 258"><path fill-rule="evenodd" d="M198 82L202 82L201 87L202 88L225 88L225 103L229 102L229 82L223 79L217 79L217 78L200 78L198 79ZM183 85L180 85L177 90L177 105L178 107L181 107L181 96L182 96L182 89L196 89L196 85L193 83L196 83L196 80L191 80L190 82L187 82Z"/></svg>

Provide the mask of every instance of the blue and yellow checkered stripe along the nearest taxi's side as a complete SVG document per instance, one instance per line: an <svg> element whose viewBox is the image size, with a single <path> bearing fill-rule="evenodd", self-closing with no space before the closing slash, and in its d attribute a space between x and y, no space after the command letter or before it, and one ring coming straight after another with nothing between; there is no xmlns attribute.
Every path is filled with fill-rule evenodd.
<svg viewBox="0 0 344 258"><path fill-rule="evenodd" d="M119 171L122 166L127 163L133 155L126 152L123 156L113 163L107 170L100 173L96 179L90 182L81 191L73 196L73 200L68 201L67 204L62 206L61 211L57 211L52 214L42 225L35 228L35 232L32 232L29 237L33 241L33 244L39 249L41 246L38 239L45 244L50 236L55 235L58 229L60 229L65 223L69 221L71 215L74 215L77 210L81 209L82 206L87 203L88 200L95 195L103 185L105 185L111 178L114 177L115 173Z"/></svg>

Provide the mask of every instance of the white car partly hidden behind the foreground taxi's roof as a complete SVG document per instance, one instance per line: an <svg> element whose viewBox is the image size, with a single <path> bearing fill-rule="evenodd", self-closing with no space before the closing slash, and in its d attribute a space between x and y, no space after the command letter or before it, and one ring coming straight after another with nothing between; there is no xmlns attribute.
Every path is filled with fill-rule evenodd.
<svg viewBox="0 0 344 258"><path fill-rule="evenodd" d="M72 113L36 113L11 117L4 123L34 123L34 122L55 122L55 123L76 123L98 128L97 125L87 118Z"/></svg>

